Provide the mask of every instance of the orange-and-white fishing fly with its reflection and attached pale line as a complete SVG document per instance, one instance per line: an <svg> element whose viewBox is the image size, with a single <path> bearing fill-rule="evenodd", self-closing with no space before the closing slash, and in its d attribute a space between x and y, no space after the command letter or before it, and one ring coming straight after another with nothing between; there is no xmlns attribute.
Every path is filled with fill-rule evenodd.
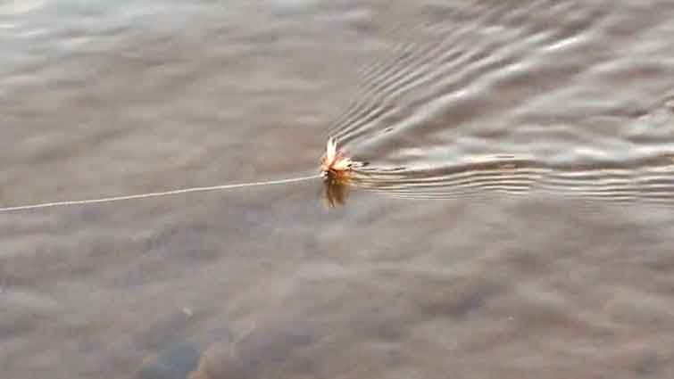
<svg viewBox="0 0 674 379"><path fill-rule="evenodd" d="M121 202L123 200L147 199L152 197L170 196L175 194L219 191L219 190L228 190L252 186L262 186L262 185L284 185L289 183L303 182L306 180L312 180L317 178L323 179L324 184L326 185L326 196L328 198L328 202L331 206L334 206L336 202L338 203L344 202L344 193L345 193L344 190L346 183L352 177L354 169L362 167L363 165L364 164L362 162L352 161L350 158L346 157L343 152L337 150L337 143L333 138L329 138L328 144L326 145L326 150L323 153L323 156L320 160L320 174L318 175L312 175L309 177L291 177L287 179L269 180L262 182L191 187L164 192L129 194L123 196L104 197L99 199L71 200L64 202L43 202L38 204L19 205L13 207L0 208L0 212L37 210L40 208L62 207L69 205L86 205L101 202ZM337 196L335 196L335 194L337 194Z"/></svg>

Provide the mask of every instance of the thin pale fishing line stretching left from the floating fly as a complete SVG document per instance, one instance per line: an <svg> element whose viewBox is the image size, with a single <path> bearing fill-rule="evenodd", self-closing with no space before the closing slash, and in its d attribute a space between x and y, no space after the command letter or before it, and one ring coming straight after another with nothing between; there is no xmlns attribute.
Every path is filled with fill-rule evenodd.
<svg viewBox="0 0 674 379"><path fill-rule="evenodd" d="M113 196L113 197L104 197L100 199L88 199L88 200L71 200L65 202L43 202L40 204L31 204L31 205L20 205L16 207L5 207L0 208L0 212L10 212L16 210L37 210L39 208L50 208L50 207L63 207L68 205L86 205L86 204L96 204L98 202L121 202L123 200L135 200L135 199L146 199L149 197L161 197L161 196L171 196L174 194L188 194L193 192L205 192L205 191L219 191L243 187L253 187L261 185L284 185L287 183L303 182L305 180L312 180L319 178L320 175L312 175L311 177L291 177L287 179L279 180L268 180L264 182L250 182L250 183L238 183L231 185L212 185L207 187L192 187L192 188L182 188L171 191L164 192L154 192L147 194L129 194L124 196Z"/></svg>

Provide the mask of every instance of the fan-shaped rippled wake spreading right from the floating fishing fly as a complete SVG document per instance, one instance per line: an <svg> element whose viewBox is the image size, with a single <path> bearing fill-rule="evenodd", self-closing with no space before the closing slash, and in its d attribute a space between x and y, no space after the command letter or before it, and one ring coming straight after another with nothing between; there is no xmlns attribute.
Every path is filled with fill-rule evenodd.
<svg viewBox="0 0 674 379"><path fill-rule="evenodd" d="M605 5L421 7L333 131L376 146L367 186L404 196L670 202L670 13L641 21Z"/></svg>

